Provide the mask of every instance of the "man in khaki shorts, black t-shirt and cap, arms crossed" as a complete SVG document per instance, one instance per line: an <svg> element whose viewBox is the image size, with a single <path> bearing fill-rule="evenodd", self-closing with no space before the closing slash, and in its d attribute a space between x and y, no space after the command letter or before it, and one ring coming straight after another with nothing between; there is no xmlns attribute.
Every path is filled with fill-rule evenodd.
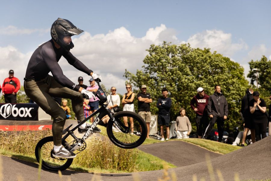
<svg viewBox="0 0 271 181"><path fill-rule="evenodd" d="M149 137L150 132L150 123L151 123L151 109L150 103L152 102L151 95L147 93L147 86L141 86L141 92L137 95L138 100L138 114L145 120L148 128L147 138Z"/></svg>

